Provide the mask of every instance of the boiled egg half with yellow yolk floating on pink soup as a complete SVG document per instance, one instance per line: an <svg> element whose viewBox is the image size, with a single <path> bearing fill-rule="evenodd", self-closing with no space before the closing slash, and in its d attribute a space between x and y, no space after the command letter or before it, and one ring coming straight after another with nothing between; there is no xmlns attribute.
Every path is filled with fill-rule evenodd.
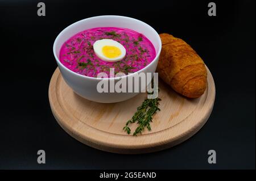
<svg viewBox="0 0 256 181"><path fill-rule="evenodd" d="M93 44L97 57L108 62L116 62L125 57L126 49L117 41L111 39L97 40Z"/></svg>

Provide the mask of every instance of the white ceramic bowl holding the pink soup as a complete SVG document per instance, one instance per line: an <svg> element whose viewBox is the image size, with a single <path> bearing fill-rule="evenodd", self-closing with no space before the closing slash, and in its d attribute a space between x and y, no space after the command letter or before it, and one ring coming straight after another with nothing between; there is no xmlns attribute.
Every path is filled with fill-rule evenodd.
<svg viewBox="0 0 256 181"><path fill-rule="evenodd" d="M149 26L148 24L134 19L128 18L126 16L114 16L114 15L106 15L106 16L95 16L92 18L86 18L80 20L79 22L73 23L56 37L55 42L53 44L53 54L57 61L57 65L59 66L60 72L68 84L69 87L76 94L82 96L85 99L92 100L94 102L100 103L114 103L114 102L121 102L123 100L127 100L132 98L133 96L137 95L138 92L109 92L109 93L100 93L97 91L97 83L100 82L102 79L87 77L85 75L77 74L68 68L66 68L63 64L61 64L59 60L59 53L61 46L67 41L70 37L84 31L89 28L96 28L96 27L121 27L121 28L129 28L130 30L137 31L142 33L146 36L151 43L154 45L156 50L156 57L155 59L148 64L145 68L137 71L137 73L154 73L156 66L158 64L158 59L162 47L162 43L158 33ZM125 77L133 76L133 74L126 75ZM119 78L108 78L114 79L115 82L119 80ZM130 86L127 84L127 86Z"/></svg>

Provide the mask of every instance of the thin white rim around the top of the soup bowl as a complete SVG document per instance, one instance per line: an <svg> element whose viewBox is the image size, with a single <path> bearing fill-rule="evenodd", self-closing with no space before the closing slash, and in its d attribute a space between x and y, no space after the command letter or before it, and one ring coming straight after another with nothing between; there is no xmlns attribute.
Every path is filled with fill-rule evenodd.
<svg viewBox="0 0 256 181"><path fill-rule="evenodd" d="M139 22L139 23L144 24L144 25L147 26L148 28L150 28L150 29L157 35L156 37L157 37L157 39L158 39L159 49L158 49L158 52L156 52L156 56L155 56L154 60L152 60L152 61L150 62L150 64L148 64L147 66L145 66L145 67L144 67L143 69L141 69L141 70L135 71L134 73L130 73L130 74L127 74L127 75L124 75L124 76L121 76L121 77L97 78L97 77L89 77L89 76L87 76L87 75L81 75L81 74L79 74L79 73L76 73L75 71L72 71L72 70L68 69L67 67L65 67L65 66L60 62L60 60L59 60L59 58L58 58L58 56L57 56L57 54L56 54L56 50L55 50L55 49L56 49L56 42L61 38L61 36L63 35L63 33L64 33L65 31L67 31L69 28L73 27L75 24L79 24L79 23L83 22L84 20L88 20L88 19L92 19L92 20L93 20L93 19L97 19L97 18L113 18L113 17L119 17L119 18L125 18L125 19L135 20L135 21L137 21L137 22ZM155 48L155 46L154 46L154 48ZM156 49L156 48L155 48L155 49ZM75 23L70 24L68 27L65 27L65 28L59 33L59 35L56 37L56 39L55 39L55 41L54 41L54 43L53 43L53 54L54 54L55 60L57 61L58 66L61 66L61 68L67 70L69 73L71 73L71 74L73 74L73 75L79 76L79 77L81 77L81 78L89 78L89 79L92 79L92 80L103 80L103 79L104 79L104 80L108 80L108 79L110 79L110 80L111 80L111 79L118 80L118 79L121 79L121 78L126 78L126 77L133 76L135 73L138 73L138 74L139 74L139 73L141 73L144 69L148 68L148 66L150 66L151 64L153 64L153 63L159 58L161 50L162 50L162 41L161 41L161 39L160 39L160 36L159 36L158 32L156 32L154 28L152 28L152 27L151 27L150 25L148 25L147 23L142 22L141 20L138 20L138 19L135 19L135 18L130 18L130 17L127 17L127 16L119 16L119 15L101 15L101 16L93 16L93 17L90 17L90 18L81 19L81 20L79 20L79 21L77 21L77 22L75 22Z"/></svg>

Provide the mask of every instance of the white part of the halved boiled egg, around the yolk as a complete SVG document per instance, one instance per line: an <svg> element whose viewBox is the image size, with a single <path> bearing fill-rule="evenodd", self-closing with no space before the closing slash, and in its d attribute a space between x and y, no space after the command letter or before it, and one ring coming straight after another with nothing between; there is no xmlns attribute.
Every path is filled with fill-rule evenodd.
<svg viewBox="0 0 256 181"><path fill-rule="evenodd" d="M121 50L121 55L118 57L115 57L115 58L108 58L108 57L104 56L104 54L102 52L102 48L104 46L114 46L114 47L119 48ZM111 39L102 39L102 40L95 41L95 43L93 44L93 50L98 58L100 58L101 60L104 60L104 61L108 61L108 62L116 62L116 61L122 60L126 54L125 47L123 47L123 45L118 43L117 41L114 41Z"/></svg>

